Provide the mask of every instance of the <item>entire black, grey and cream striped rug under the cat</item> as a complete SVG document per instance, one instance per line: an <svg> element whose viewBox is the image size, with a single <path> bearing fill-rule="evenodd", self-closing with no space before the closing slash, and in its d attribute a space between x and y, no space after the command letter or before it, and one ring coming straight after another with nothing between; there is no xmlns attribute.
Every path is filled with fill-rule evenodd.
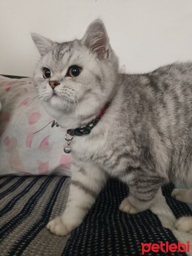
<svg viewBox="0 0 192 256"><path fill-rule="evenodd" d="M150 210L129 215L118 209L128 187L117 180L108 181L71 235L52 235L46 225L64 210L69 185L67 177L0 178L0 256L139 256L142 242L192 243L192 235L174 229L176 218L192 212L186 204L171 198L172 184L158 192ZM177 251L145 255L192 254Z"/></svg>

